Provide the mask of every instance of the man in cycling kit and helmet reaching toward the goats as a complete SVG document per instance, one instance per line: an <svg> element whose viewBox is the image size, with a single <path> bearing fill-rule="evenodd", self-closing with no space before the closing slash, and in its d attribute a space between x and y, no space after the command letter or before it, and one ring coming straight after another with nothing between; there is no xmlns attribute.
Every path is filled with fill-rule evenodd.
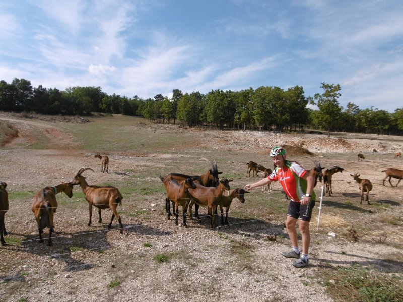
<svg viewBox="0 0 403 302"><path fill-rule="evenodd" d="M292 250L283 252L286 258L297 258L292 262L295 267L305 267L309 263L308 250L311 242L309 222L311 221L312 209L315 206L316 195L313 191L315 178L302 168L297 162L288 161L287 152L283 147L274 147L270 156L273 159L275 169L268 177L255 183L247 184L246 190L279 181L284 192L290 198L288 206L286 227L292 243ZM299 230L302 235L302 253L298 248L297 221L299 218Z"/></svg>

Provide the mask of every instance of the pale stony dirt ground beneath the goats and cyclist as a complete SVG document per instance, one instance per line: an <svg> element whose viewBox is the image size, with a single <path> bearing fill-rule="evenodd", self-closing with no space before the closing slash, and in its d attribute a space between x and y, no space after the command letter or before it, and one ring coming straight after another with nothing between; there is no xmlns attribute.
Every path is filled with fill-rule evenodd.
<svg viewBox="0 0 403 302"><path fill-rule="evenodd" d="M258 180L245 177L246 162L255 160L271 167L267 154L274 145L286 145L289 158L304 166L311 165L305 158L309 156L326 169L343 167L343 173L333 176L333 196L324 197L319 229L318 207L314 210L311 265L298 270L281 256L290 248L285 215L269 217L270 208L259 209L248 202L248 198L263 197L275 204L281 196L276 184L272 193L253 190L243 205L234 201L231 211L238 218L232 218L229 227L214 230L208 229L207 220L191 221L188 228L168 221L163 188L142 195L141 200L125 198L121 210L123 235L116 230L116 221L114 228L105 229L109 212L103 212L103 224L93 221L89 227L88 206L82 199L58 195L62 200L56 212L58 237L51 247L38 244L30 211L33 194L41 187L70 181L76 167L87 166L93 155L78 149L74 137L61 130L56 120L49 124L37 118L0 114L0 121L18 130L18 135L11 131L14 137L0 148L0 180L7 182L13 197L6 214L6 240L22 240L0 247L0 300L332 301L318 277L323 269L357 263L399 276L403 272L403 183L391 187L386 182L383 186L381 172L389 167L403 170L403 159L393 158L395 152L403 150L403 137L332 133L328 138L317 133L183 130L174 125L150 124L159 131L177 131L178 135L199 137L208 143L194 145L194 156L183 150L150 150L141 155L135 150L119 150L109 156L113 162L109 174L97 171L91 175L92 183L137 181L152 187L159 181L158 175L140 180L126 171L158 167L168 172L164 168L167 163L190 166L195 156L203 154L220 159L219 170L236 176L236 186L244 186ZM38 133L52 141L52 148L30 148ZM71 148L64 148L66 142ZM357 160L358 152L365 155L362 162ZM229 154L231 158L224 160ZM370 205L359 203L358 184L350 176L355 172L373 183ZM392 183L395 185L396 180ZM315 191L320 195L318 187ZM286 201L282 202L286 208ZM267 219L257 218L261 217L259 211L268 212ZM242 218L242 213L249 218ZM256 219L250 219L252 213ZM347 234L352 229L360 235L357 242ZM268 240L274 235L276 241ZM169 255L170 260L159 263L155 260L158 255Z"/></svg>

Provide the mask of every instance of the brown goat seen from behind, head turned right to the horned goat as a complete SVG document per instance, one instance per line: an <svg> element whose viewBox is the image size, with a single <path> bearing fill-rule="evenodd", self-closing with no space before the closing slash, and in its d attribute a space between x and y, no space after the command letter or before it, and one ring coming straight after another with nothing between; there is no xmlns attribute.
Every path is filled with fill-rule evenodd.
<svg viewBox="0 0 403 302"><path fill-rule="evenodd" d="M55 187L45 187L39 190L32 199L32 212L35 215L39 231L39 242L43 242L42 233L44 228L49 228L48 245L52 245L52 232L54 232L54 213L57 210L56 194L64 192L69 198L73 196L73 185L61 183Z"/></svg>

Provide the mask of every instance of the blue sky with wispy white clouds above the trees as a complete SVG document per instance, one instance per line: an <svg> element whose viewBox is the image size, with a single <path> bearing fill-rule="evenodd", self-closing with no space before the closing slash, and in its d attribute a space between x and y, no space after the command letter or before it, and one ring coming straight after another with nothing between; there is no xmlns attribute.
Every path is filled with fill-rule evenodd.
<svg viewBox="0 0 403 302"><path fill-rule="evenodd" d="M0 80L153 98L340 84L339 103L403 108L401 0L3 0Z"/></svg>

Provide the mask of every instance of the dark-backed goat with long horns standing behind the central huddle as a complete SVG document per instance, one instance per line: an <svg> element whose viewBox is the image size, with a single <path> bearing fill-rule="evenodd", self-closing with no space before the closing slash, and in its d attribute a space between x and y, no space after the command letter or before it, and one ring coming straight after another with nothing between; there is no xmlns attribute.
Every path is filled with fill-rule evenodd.
<svg viewBox="0 0 403 302"><path fill-rule="evenodd" d="M216 159L214 159L214 164L213 164L213 162L210 162L206 158L201 158L201 159L199 159L199 161L206 161L206 162L211 164L211 168L206 173L204 173L202 175L185 175L185 174L180 174L180 173L170 173L170 174L168 174L168 176L170 177L171 180L174 179L174 180L176 180L178 182L183 181L186 178L192 178L192 179L195 179L194 181L196 183L199 183L200 185L205 186L205 187L215 187L215 186L217 186L217 184L220 181L218 175L223 173L223 172L218 171ZM173 202L172 202L172 204L173 204ZM170 208L171 208L171 204L169 203L169 199L166 198L165 199L165 210L167 212L168 219L171 216ZM198 208L199 208L199 205L195 204L195 206L194 206L194 216L196 218L200 217L199 214L198 214ZM175 213L173 213L173 214L175 215Z"/></svg>

